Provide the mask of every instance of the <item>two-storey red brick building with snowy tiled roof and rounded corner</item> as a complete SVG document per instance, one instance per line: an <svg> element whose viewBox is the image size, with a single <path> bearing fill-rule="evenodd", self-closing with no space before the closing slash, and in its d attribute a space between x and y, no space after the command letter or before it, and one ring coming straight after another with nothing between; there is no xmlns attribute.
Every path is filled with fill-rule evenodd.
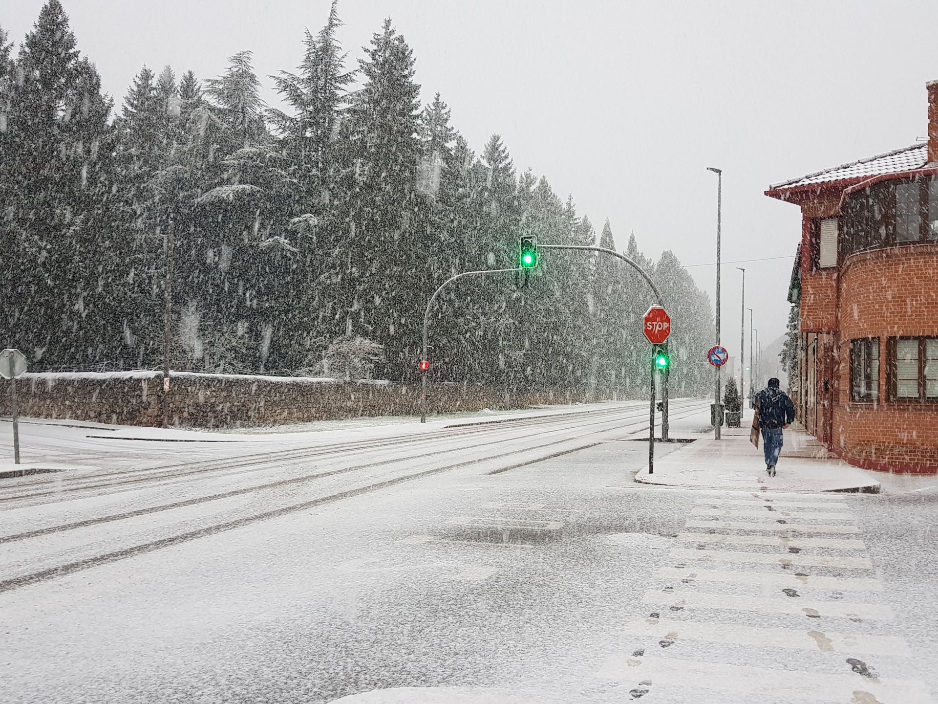
<svg viewBox="0 0 938 704"><path fill-rule="evenodd" d="M927 88L927 142L765 191L801 207L799 418L844 460L893 472L938 473L938 81Z"/></svg>

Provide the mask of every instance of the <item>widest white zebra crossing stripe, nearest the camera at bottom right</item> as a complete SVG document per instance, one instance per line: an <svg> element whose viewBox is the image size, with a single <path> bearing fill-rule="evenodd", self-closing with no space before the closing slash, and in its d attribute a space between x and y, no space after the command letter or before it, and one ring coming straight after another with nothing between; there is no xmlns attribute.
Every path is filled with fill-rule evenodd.
<svg viewBox="0 0 938 704"><path fill-rule="evenodd" d="M845 668L847 666L844 666ZM666 692L712 690L751 701L859 702L873 704L930 704L928 686L917 680L871 679L847 670L842 675L794 672L768 667L704 663L678 658L613 655L600 668L599 677L610 680L647 682L648 691L660 690L660 701L687 701L667 697ZM701 701L706 699L701 698ZM710 701L713 701L710 698Z"/></svg>

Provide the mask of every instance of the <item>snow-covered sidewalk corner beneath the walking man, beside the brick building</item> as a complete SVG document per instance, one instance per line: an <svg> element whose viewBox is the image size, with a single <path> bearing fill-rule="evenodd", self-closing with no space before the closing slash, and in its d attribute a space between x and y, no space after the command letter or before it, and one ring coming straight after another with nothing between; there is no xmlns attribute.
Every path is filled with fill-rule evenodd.
<svg viewBox="0 0 938 704"><path fill-rule="evenodd" d="M655 461L635 481L688 489L772 489L773 491L859 491L878 494L880 482L870 472L826 459L825 448L796 426L785 431L785 445L778 474L765 473L762 441L757 450L749 442L749 423L741 428L723 428L721 439L698 436L693 442Z"/></svg>

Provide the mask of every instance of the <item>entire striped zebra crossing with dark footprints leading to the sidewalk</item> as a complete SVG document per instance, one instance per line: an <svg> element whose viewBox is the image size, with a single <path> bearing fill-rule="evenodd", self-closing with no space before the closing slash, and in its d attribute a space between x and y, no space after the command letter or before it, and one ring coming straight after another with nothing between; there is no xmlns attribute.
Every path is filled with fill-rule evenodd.
<svg viewBox="0 0 938 704"><path fill-rule="evenodd" d="M637 685L630 691L634 698L651 694L662 701L690 696L695 701L722 698L713 694L716 691L746 701L930 702L925 682L882 677L888 674L885 668L889 668L890 659L912 656L904 639L849 633L853 628L869 628L854 625L864 621L896 620L890 605L879 603L881 597L875 596L885 592L885 586L870 572L873 565L864 552L866 544L853 537L862 531L855 526L851 507L796 494L749 494L751 499L735 496L739 498L697 499L685 529L677 536L684 545L672 548L669 556L673 561L659 567L658 589L643 595L642 603L649 605L648 617L628 621L623 627L626 635L641 638L645 647L630 650L630 656L609 658L598 674L626 681L627 686ZM810 569L814 567L864 572L809 574L816 572ZM843 592L854 592L855 601L844 601ZM744 612L776 618L746 625L753 617L743 617ZM779 619L778 615L787 618ZM783 627L764 627L779 620ZM833 629L833 623L838 624L836 630L828 630ZM761 648L816 652L819 654L812 657L820 660L811 662L825 663L827 671L644 655L646 651L658 652L658 645L661 649L674 646L660 650L662 654L687 652L679 645L682 641L742 647L754 653ZM653 650L647 650L648 646ZM717 645L703 651L720 652ZM769 665L787 660L771 650L761 654ZM869 666L861 659L868 656L875 657ZM685 696L686 690L695 691L695 695ZM709 698L703 690L711 691Z"/></svg>

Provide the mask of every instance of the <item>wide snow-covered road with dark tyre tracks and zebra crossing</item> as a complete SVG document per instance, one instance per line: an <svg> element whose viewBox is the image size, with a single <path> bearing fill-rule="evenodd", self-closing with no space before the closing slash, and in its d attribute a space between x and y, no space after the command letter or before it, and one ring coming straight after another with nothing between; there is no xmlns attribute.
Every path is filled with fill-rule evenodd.
<svg viewBox="0 0 938 704"><path fill-rule="evenodd" d="M938 497L635 485L644 412L4 483L0 700L935 701Z"/></svg>

